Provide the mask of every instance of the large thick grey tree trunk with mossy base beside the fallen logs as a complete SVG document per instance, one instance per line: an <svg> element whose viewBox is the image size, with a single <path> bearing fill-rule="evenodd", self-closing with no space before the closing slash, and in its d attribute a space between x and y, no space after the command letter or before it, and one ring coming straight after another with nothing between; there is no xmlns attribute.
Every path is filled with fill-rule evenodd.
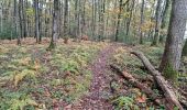
<svg viewBox="0 0 187 110"><path fill-rule="evenodd" d="M165 76L170 79L176 79L180 66L186 18L187 0L174 0L165 51L160 65L160 70L164 72Z"/></svg>

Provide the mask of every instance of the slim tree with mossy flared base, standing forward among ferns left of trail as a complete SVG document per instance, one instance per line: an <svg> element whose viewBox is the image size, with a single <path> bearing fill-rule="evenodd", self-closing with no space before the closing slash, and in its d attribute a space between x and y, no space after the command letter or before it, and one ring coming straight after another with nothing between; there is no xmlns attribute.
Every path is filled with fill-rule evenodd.
<svg viewBox="0 0 187 110"><path fill-rule="evenodd" d="M52 35L52 40L51 40L51 44L48 50L53 50L56 47L56 40L59 36L59 31L58 31L58 23L59 23L59 19L58 19L58 12L59 12L59 0L54 0L54 12L53 12L53 35Z"/></svg>

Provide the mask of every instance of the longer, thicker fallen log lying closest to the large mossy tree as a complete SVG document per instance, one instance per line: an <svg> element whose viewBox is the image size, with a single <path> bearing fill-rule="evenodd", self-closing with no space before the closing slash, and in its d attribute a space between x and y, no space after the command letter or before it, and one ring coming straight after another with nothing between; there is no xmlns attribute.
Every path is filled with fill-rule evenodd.
<svg viewBox="0 0 187 110"><path fill-rule="evenodd" d="M174 110L174 108L178 108L179 110L184 110L182 105L179 103L172 86L168 85L168 82L164 79L162 74L154 68L154 66L150 63L150 61L144 56L143 53L141 52L131 52L131 54L138 56L143 65L147 68L147 70L153 75L155 78L157 85L161 87L161 89L164 92L164 96L166 97L167 100L167 109L168 110Z"/></svg>

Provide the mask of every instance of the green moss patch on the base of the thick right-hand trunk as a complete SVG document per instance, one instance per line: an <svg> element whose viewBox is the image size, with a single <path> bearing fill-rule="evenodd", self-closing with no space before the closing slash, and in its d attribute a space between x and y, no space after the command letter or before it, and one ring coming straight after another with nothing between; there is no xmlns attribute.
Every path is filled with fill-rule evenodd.
<svg viewBox="0 0 187 110"><path fill-rule="evenodd" d="M177 82L178 73L173 68L173 66L169 63L167 63L164 68L164 76L165 78L170 79L174 82Z"/></svg>

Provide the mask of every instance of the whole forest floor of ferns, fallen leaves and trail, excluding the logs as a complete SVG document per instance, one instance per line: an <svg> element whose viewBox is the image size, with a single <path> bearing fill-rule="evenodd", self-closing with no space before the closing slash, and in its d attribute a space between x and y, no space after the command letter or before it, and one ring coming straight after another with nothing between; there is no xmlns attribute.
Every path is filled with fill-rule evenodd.
<svg viewBox="0 0 187 110"><path fill-rule="evenodd" d="M163 46L123 45L81 41L46 51L50 40L35 44L33 38L0 41L0 110L164 110L163 92L144 80L147 70L130 54L142 51L157 67ZM183 59L187 68L187 58ZM139 88L112 72L110 65L133 75L161 97L155 105ZM186 74L179 74L179 87L187 91Z"/></svg>

